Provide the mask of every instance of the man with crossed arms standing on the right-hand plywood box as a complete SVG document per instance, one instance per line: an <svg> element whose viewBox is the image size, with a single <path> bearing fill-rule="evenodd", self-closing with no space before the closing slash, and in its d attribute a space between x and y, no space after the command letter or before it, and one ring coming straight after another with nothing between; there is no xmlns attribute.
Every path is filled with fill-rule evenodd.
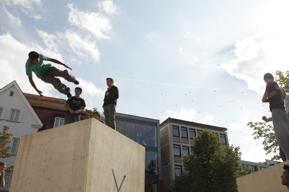
<svg viewBox="0 0 289 192"><path fill-rule="evenodd" d="M267 84L262 98L262 102L269 102L270 111L272 112L272 121L277 142L284 152L286 159L289 159L289 118L284 107L283 90L271 73L264 75L264 81ZM269 98L271 92L276 91L276 95Z"/></svg>

